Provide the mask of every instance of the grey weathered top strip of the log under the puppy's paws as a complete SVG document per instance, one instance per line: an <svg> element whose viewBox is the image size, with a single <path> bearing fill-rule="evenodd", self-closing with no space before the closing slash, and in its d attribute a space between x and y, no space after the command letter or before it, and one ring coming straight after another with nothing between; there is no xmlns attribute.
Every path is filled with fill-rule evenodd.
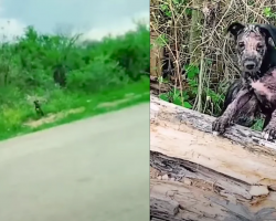
<svg viewBox="0 0 276 221"><path fill-rule="evenodd" d="M215 118L204 115L174 104L164 102L156 96L150 97L150 120L163 120L181 127L188 125L191 128L197 128L206 134L211 133L211 124ZM180 128L180 130L182 130ZM254 131L250 128L234 125L226 129L223 137L229 138L244 147L250 147L251 150L259 151L261 154L275 155L275 141L267 141L262 139L261 133ZM262 146L267 148L262 148Z"/></svg>

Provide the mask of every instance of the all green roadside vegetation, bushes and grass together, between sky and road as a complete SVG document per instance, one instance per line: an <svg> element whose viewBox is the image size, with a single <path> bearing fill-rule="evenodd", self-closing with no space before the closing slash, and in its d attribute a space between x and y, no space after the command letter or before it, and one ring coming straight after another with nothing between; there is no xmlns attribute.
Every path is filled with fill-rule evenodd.
<svg viewBox="0 0 276 221"><path fill-rule="evenodd" d="M145 76L150 65L149 48L149 30L141 25L99 42L42 35L30 27L15 43L2 43L0 139L149 102L149 78ZM55 72L60 75L54 80ZM97 107L124 99L129 93L139 96ZM34 99L40 101L45 117L36 115ZM78 107L84 110L35 128L25 125Z"/></svg>

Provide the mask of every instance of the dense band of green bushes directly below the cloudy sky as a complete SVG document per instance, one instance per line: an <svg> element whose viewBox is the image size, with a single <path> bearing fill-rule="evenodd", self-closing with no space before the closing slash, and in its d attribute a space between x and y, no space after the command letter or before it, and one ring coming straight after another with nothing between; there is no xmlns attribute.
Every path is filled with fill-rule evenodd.
<svg viewBox="0 0 276 221"><path fill-rule="evenodd" d="M66 72L68 87L86 91L93 87L92 81L103 87L120 85L149 71L149 31L145 27L102 42L76 42L77 38L41 35L29 27L17 43L0 45L0 85L53 88L53 71L60 69Z"/></svg>

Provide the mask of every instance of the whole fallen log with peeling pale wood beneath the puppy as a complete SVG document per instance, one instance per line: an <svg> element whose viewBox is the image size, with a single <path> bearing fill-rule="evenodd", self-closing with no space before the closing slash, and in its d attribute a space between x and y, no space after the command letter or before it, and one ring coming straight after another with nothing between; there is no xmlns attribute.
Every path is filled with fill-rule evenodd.
<svg viewBox="0 0 276 221"><path fill-rule="evenodd" d="M150 99L152 220L276 220L275 143L238 125L214 136L214 117Z"/></svg>

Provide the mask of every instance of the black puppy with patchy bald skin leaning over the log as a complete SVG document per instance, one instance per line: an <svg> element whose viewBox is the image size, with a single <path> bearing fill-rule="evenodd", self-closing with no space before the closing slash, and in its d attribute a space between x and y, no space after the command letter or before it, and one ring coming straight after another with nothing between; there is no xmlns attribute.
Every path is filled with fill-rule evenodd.
<svg viewBox="0 0 276 221"><path fill-rule="evenodd" d="M255 116L266 116L264 136L276 137L276 28L270 24L232 23L229 29L236 42L242 77L227 91L223 114L213 123L214 131L224 133L232 123L252 126ZM275 69L273 69L275 67Z"/></svg>

